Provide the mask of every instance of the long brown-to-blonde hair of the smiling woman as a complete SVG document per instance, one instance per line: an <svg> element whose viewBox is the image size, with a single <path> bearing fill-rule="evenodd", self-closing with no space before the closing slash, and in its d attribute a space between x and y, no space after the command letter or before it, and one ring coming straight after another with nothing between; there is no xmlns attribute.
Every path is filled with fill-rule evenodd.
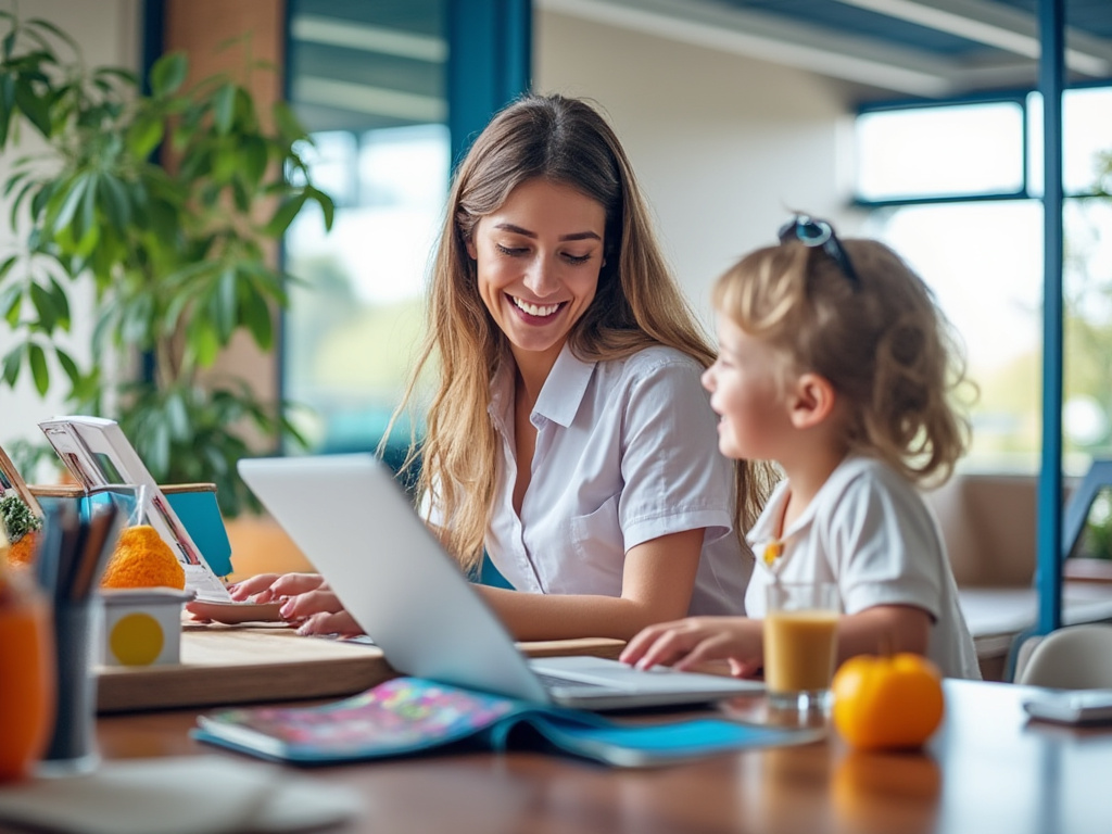
<svg viewBox="0 0 1112 834"><path fill-rule="evenodd" d="M682 350L704 367L712 348L673 279L653 234L629 161L605 119L584 101L526 96L498 112L456 171L431 267L428 327L400 413L434 357L438 385L420 446L418 503L436 509L445 546L473 570L493 512L497 438L487 411L490 383L509 356L479 297L466 244L478 221L527 180L570 186L606 209L605 266L598 290L569 340L587 361L628 356L651 345ZM396 414L397 416L397 414ZM771 478L738 466L737 523L759 512Z"/></svg>

